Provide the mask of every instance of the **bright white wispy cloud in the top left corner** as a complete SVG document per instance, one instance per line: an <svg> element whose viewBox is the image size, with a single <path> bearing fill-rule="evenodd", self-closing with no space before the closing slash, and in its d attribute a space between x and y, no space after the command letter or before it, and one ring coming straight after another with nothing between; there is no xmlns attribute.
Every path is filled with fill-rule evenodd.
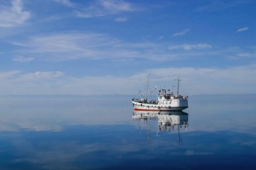
<svg viewBox="0 0 256 170"><path fill-rule="evenodd" d="M0 27L10 28L23 24L30 18L30 12L22 8L22 0L12 0L9 6L0 6Z"/></svg>

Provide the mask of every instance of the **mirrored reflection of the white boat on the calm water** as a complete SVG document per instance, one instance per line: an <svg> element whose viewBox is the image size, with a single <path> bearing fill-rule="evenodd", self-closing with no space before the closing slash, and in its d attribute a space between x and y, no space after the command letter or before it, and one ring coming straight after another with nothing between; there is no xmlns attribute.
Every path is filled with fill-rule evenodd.
<svg viewBox="0 0 256 170"><path fill-rule="evenodd" d="M178 111L162 114L160 112L142 112L134 111L133 120L138 120L139 129L146 130L148 139L150 132L178 132L179 143L181 142L180 129L185 129L189 126L189 114Z"/></svg>

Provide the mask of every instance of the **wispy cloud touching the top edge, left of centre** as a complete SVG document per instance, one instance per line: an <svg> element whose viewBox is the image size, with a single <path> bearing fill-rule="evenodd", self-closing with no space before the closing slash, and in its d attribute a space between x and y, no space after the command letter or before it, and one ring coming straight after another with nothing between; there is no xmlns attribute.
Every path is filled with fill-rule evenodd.
<svg viewBox="0 0 256 170"><path fill-rule="evenodd" d="M120 0L95 1L84 10L76 10L77 17L100 17L123 11L134 11L136 8L131 3Z"/></svg>

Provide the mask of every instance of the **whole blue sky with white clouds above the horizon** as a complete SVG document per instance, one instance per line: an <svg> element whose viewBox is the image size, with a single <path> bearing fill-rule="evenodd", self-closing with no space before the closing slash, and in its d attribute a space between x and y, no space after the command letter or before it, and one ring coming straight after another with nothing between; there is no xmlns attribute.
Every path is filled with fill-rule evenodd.
<svg viewBox="0 0 256 170"><path fill-rule="evenodd" d="M245 1L0 2L0 95L255 93L255 5Z"/></svg>

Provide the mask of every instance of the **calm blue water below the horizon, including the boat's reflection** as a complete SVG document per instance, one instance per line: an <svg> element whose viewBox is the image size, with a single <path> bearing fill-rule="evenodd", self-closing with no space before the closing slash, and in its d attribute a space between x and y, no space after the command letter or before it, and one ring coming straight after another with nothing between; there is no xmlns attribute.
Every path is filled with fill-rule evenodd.
<svg viewBox="0 0 256 170"><path fill-rule="evenodd" d="M255 101L192 96L185 113L136 116L127 96L0 97L0 169L256 169Z"/></svg>

